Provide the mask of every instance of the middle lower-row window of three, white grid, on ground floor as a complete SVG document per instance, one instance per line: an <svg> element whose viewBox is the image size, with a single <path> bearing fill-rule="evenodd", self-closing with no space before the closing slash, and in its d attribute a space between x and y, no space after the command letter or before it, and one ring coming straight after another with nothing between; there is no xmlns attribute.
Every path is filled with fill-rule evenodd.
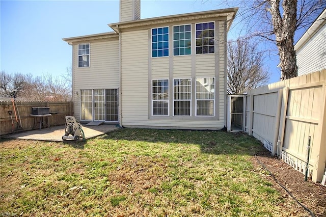
<svg viewBox="0 0 326 217"><path fill-rule="evenodd" d="M191 116L192 82L190 78L173 79L173 115Z"/></svg>

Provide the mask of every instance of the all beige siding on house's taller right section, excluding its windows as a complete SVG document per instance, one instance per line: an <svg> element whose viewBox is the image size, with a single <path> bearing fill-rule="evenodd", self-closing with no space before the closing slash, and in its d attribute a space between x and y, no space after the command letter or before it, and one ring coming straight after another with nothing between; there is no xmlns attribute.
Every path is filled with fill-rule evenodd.
<svg viewBox="0 0 326 217"><path fill-rule="evenodd" d="M150 29L122 32L121 124L125 127L223 128L226 105L224 23L225 20L216 21L216 25L219 25L216 27L216 38L219 38L216 40L216 53L207 55L196 55L193 52L191 56L174 57L170 50L170 57L152 58ZM178 23L174 24L178 25ZM215 77L215 117L194 115L196 77ZM151 80L162 78L169 78L169 116L152 116ZM173 78L192 78L193 114L191 117L173 116Z"/></svg>

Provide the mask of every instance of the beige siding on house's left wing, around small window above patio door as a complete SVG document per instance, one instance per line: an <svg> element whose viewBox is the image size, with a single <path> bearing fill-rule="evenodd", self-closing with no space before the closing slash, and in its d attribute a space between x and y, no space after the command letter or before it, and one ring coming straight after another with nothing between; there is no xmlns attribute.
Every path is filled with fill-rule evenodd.
<svg viewBox="0 0 326 217"><path fill-rule="evenodd" d="M74 115L79 119L80 90L119 88L119 40L90 42L90 67L78 68L78 44L72 49Z"/></svg>

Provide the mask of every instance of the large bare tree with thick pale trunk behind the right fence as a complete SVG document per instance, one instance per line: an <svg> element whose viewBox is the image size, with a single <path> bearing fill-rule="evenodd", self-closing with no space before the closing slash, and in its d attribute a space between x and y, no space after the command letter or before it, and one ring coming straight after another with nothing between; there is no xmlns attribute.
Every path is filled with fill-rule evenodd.
<svg viewBox="0 0 326 217"><path fill-rule="evenodd" d="M240 8L234 24L243 26L245 37L259 36L277 46L282 78L297 76L295 31L307 29L326 8L326 0L226 0L225 3Z"/></svg>

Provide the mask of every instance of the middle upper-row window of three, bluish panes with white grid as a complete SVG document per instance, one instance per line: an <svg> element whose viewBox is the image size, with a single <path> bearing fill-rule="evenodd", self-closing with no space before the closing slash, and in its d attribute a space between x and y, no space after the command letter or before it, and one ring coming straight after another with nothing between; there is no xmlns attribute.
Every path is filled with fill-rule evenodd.
<svg viewBox="0 0 326 217"><path fill-rule="evenodd" d="M191 25L175 25L173 26L173 55L191 55Z"/></svg>

